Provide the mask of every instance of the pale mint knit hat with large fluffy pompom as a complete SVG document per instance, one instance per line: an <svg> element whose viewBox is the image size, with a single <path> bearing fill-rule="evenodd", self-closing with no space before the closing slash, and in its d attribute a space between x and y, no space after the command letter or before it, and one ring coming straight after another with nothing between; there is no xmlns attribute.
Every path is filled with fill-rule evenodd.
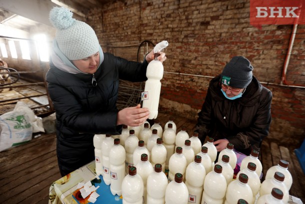
<svg viewBox="0 0 305 204"><path fill-rule="evenodd" d="M55 40L59 50L69 60L80 60L94 55L100 45L93 29L72 18L64 7L54 7L49 13L50 23L56 28Z"/></svg>

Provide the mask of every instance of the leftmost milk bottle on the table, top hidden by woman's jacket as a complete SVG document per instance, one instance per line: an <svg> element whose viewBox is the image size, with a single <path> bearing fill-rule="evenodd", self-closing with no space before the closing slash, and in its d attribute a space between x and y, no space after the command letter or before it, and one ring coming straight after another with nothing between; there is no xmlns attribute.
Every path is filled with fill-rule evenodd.
<svg viewBox="0 0 305 204"><path fill-rule="evenodd" d="M106 137L105 134L96 134L96 135L93 136L96 175L102 175L103 174L101 142L105 137Z"/></svg>

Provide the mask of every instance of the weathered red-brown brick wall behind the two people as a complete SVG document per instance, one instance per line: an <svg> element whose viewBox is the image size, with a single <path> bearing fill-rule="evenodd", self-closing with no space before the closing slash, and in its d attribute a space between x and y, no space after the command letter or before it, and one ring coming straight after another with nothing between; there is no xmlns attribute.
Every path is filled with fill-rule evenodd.
<svg viewBox="0 0 305 204"><path fill-rule="evenodd" d="M298 148L304 139L305 89L281 86L292 25L249 24L249 0L115 1L88 14L104 52L136 60L144 40L167 40L159 109L196 119L211 77L235 55L273 93L268 139ZM296 30L285 79L305 85L305 27ZM130 45L127 47L123 47ZM180 73L180 74L179 74ZM268 84L267 84L268 83Z"/></svg>

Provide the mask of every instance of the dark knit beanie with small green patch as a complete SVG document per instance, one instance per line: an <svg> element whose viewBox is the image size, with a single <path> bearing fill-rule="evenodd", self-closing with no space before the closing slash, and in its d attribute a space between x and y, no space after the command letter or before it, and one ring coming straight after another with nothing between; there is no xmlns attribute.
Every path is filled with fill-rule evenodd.
<svg viewBox="0 0 305 204"><path fill-rule="evenodd" d="M221 73L221 83L234 88L246 88L252 80L253 67L242 56L233 57Z"/></svg>

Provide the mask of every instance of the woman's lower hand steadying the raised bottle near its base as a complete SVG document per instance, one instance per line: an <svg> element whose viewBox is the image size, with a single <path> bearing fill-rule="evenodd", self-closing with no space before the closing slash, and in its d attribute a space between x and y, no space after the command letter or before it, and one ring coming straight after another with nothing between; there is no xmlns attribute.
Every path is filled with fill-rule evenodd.
<svg viewBox="0 0 305 204"><path fill-rule="evenodd" d="M148 108L141 108L138 104L134 107L124 108L117 113L116 125L140 126L149 117Z"/></svg>

